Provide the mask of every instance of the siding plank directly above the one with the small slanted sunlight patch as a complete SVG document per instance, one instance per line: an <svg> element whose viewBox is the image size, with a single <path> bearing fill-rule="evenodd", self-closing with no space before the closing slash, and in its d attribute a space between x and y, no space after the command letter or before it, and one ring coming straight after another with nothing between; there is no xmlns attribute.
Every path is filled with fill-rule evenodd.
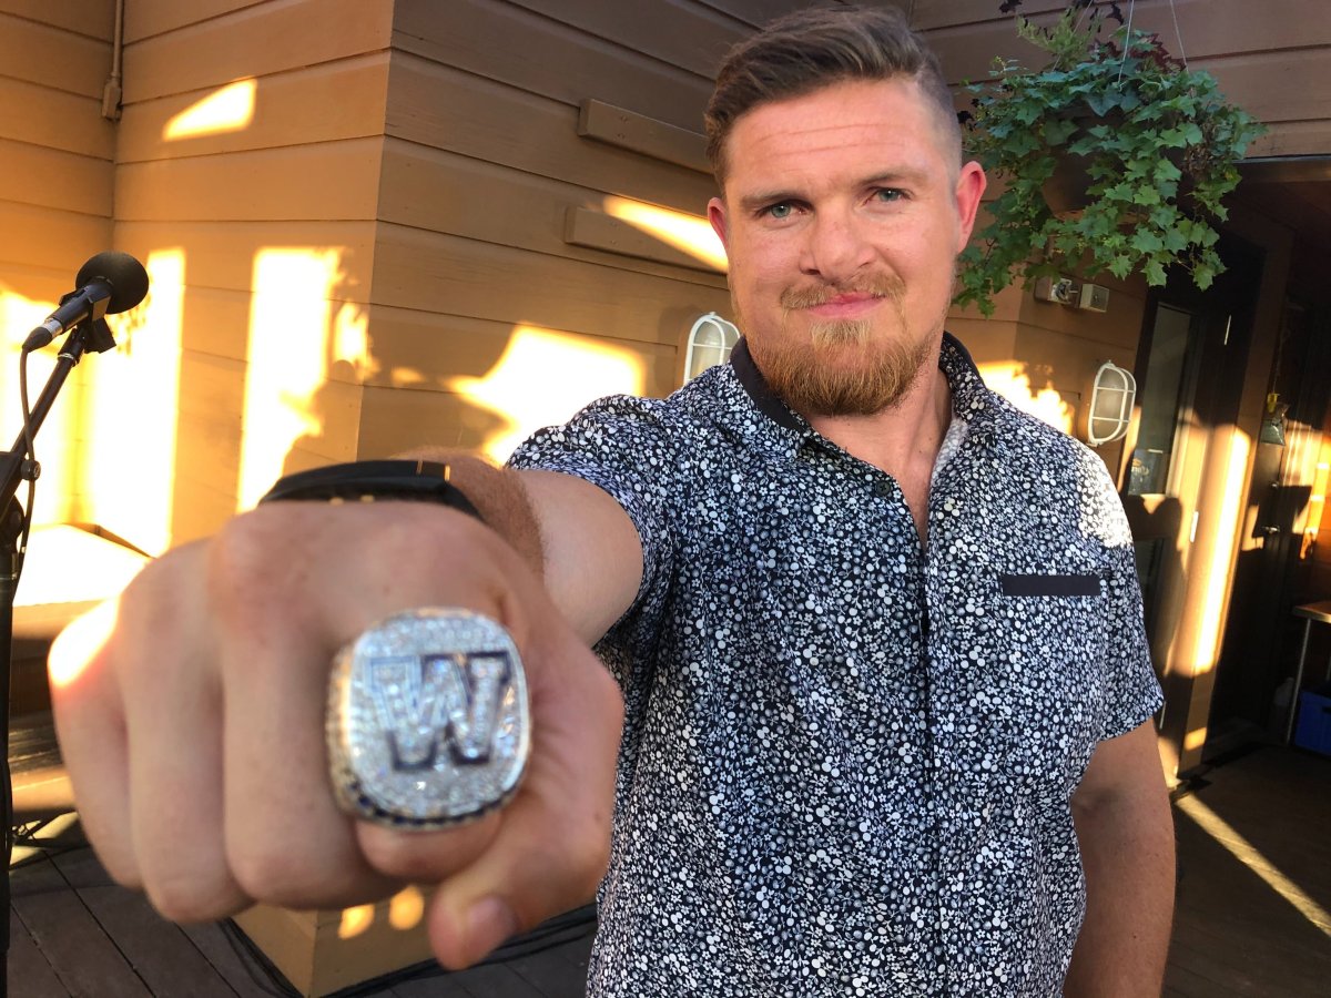
<svg viewBox="0 0 1331 998"><path fill-rule="evenodd" d="M382 0L270 0L126 45L125 102L385 49L390 13Z"/></svg>

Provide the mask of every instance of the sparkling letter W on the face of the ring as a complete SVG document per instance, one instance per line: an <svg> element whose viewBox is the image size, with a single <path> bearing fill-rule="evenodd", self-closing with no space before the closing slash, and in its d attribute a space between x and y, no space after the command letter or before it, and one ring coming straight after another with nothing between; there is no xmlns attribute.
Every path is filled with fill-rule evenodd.
<svg viewBox="0 0 1331 998"><path fill-rule="evenodd" d="M434 769L443 743L459 765L486 762L512 676L503 651L394 656L369 663L393 769Z"/></svg>

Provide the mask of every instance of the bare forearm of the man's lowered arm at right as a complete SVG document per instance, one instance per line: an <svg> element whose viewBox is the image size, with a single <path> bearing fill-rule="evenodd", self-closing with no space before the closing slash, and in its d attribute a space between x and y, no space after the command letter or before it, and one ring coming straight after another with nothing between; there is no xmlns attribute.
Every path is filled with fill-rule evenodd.
<svg viewBox="0 0 1331 998"><path fill-rule="evenodd" d="M1167 797L1075 814L1086 870L1086 919L1065 998L1161 993L1174 912L1174 828Z"/></svg>

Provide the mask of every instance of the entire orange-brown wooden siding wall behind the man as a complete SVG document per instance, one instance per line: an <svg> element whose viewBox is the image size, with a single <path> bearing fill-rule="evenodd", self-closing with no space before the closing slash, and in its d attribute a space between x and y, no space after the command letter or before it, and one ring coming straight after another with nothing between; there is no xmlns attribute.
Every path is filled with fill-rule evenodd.
<svg viewBox="0 0 1331 998"><path fill-rule="evenodd" d="M425 442L502 456L604 391L669 391L693 318L729 311L724 273L614 212L703 217L715 67L803 5L126 0L112 125L113 0L0 0L7 329L28 309L7 335L108 245L153 273L121 347L72 379L49 518L156 551L285 470ZM953 83L1020 55L994 0L898 5ZM1175 7L1190 61L1272 124L1255 154L1331 152L1319 0ZM1174 37L1166 0L1135 9ZM233 120L201 130L209 112ZM1103 317L1012 291L997 321L952 326L1012 395L1077 427L1091 373L1130 366L1141 326L1145 289L1106 283Z"/></svg>

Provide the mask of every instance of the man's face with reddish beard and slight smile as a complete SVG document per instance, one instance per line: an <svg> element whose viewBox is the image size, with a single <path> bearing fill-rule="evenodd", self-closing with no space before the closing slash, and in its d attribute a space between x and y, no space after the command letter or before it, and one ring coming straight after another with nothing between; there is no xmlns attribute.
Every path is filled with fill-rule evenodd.
<svg viewBox="0 0 1331 998"><path fill-rule="evenodd" d="M759 369L805 415L894 405L933 357L985 188L913 80L743 114L708 217Z"/></svg>

